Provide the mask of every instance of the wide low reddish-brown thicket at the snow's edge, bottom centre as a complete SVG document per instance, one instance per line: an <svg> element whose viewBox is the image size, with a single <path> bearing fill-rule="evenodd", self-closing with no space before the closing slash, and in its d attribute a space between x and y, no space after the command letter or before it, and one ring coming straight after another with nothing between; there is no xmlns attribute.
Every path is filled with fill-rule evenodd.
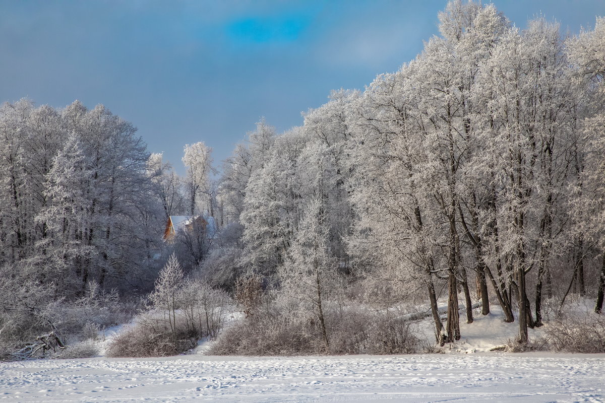
<svg viewBox="0 0 605 403"><path fill-rule="evenodd" d="M329 350L313 315L273 304L224 330L211 355L319 355L413 353L420 340L407 321L362 309L331 311Z"/></svg>

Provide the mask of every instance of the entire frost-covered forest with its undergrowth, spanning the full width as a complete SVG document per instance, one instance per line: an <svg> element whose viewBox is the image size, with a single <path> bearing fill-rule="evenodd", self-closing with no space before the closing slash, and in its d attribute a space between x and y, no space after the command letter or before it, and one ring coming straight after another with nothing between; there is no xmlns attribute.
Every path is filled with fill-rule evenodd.
<svg viewBox="0 0 605 403"><path fill-rule="evenodd" d="M566 36L454 0L439 33L225 161L186 145L185 175L102 105L4 103L0 359L133 317L114 356L433 351L494 310L518 348L551 321L605 351L605 18ZM164 240L171 216L203 220Z"/></svg>

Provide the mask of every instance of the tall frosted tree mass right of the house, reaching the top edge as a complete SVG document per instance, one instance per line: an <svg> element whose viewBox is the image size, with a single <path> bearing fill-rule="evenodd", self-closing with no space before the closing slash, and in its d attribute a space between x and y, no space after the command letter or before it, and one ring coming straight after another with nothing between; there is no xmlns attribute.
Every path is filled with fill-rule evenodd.
<svg viewBox="0 0 605 403"><path fill-rule="evenodd" d="M258 123L218 182L237 239L221 257L307 292L319 326L324 298L361 282L385 304L424 290L442 344L461 337L459 298L486 315L491 295L527 343L545 300L603 308L605 20L563 37L452 1L439 21L416 59L303 126Z"/></svg>

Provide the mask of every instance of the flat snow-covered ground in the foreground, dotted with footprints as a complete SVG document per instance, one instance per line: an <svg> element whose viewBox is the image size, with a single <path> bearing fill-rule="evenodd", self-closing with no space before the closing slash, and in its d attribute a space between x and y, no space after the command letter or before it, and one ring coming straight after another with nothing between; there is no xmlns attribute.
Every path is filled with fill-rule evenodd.
<svg viewBox="0 0 605 403"><path fill-rule="evenodd" d="M605 355L39 360L0 364L2 402L603 402Z"/></svg>

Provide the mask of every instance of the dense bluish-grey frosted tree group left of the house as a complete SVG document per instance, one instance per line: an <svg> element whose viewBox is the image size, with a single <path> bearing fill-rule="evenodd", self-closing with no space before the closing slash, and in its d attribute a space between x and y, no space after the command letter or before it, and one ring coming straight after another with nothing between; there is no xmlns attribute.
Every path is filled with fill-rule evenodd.
<svg viewBox="0 0 605 403"><path fill-rule="evenodd" d="M44 282L60 268L57 292L144 278L163 218L132 124L79 102L57 110L22 100L0 112L1 262L22 262Z"/></svg>

